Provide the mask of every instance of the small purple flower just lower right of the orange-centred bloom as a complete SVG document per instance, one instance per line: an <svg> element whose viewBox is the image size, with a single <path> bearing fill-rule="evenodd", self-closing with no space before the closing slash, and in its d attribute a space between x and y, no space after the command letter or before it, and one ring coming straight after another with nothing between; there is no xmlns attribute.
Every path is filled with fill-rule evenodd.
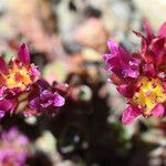
<svg viewBox="0 0 166 166"><path fill-rule="evenodd" d="M55 113L56 108L65 103L60 93L60 90L51 86L45 80L38 80L29 95L29 105L24 114Z"/></svg>

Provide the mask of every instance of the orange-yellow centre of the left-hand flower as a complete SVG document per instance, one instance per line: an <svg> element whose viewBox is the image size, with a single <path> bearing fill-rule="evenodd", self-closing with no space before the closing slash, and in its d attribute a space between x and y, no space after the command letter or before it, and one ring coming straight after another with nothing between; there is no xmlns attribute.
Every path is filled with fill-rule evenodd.
<svg viewBox="0 0 166 166"><path fill-rule="evenodd" d="M3 77L8 89L19 87L23 91L32 82L28 69L17 63L13 63L9 69L9 74L3 75Z"/></svg>

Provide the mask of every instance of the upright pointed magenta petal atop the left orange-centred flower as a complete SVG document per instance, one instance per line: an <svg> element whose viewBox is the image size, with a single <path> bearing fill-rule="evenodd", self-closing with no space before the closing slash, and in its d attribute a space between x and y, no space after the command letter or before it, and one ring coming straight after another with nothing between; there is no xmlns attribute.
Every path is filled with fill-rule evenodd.
<svg viewBox="0 0 166 166"><path fill-rule="evenodd" d="M25 43L21 44L19 48L18 60L25 65L30 64L30 53Z"/></svg>

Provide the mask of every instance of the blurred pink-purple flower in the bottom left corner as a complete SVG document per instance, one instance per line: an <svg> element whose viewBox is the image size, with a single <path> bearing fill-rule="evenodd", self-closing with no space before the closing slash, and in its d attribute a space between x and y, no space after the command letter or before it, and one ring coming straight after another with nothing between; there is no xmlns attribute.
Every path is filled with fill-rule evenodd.
<svg viewBox="0 0 166 166"><path fill-rule="evenodd" d="M28 144L28 137L18 128L12 127L9 132L3 132L0 139L0 165L24 166L29 155Z"/></svg>

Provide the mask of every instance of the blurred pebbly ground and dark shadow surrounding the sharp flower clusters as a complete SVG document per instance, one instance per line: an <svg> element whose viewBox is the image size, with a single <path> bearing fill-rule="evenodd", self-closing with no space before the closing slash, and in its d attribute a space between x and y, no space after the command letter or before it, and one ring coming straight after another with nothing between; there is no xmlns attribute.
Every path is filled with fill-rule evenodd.
<svg viewBox="0 0 166 166"><path fill-rule="evenodd" d="M71 86L55 116L0 122L0 156L7 147L17 152L6 166L22 166L19 156L25 166L166 166L166 120L122 125L125 101L102 61L110 38L139 49L132 31L142 31L144 19L156 32L166 1L0 0L0 54L8 61L25 42L46 81Z"/></svg>

